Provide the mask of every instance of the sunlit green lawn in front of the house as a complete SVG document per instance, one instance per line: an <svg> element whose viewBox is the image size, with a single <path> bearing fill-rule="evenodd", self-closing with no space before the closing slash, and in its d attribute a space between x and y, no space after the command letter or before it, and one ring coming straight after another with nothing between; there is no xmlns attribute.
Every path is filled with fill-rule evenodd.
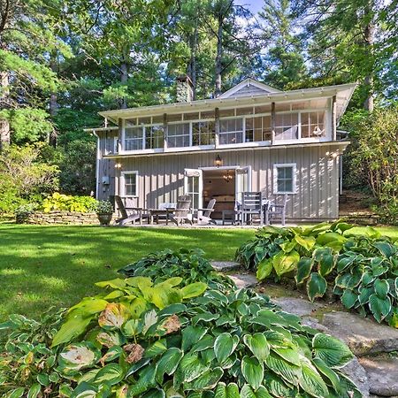
<svg viewBox="0 0 398 398"><path fill-rule="evenodd" d="M398 228L378 228L398 237ZM356 228L363 233L364 228ZM69 306L96 293L94 283L161 249L201 248L231 260L253 229L101 228L0 224L0 322L18 312L36 318L50 306Z"/></svg>

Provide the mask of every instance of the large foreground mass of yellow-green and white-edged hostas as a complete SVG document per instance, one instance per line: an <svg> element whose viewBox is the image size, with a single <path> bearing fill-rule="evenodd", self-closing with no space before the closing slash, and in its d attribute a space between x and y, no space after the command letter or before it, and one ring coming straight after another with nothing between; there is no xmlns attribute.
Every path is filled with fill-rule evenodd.
<svg viewBox="0 0 398 398"><path fill-rule="evenodd" d="M46 345L58 350L50 373L56 381L44 387L32 380L35 393L46 388L54 397L361 396L340 371L353 357L341 341L301 325L300 318L250 290L202 295L200 282L182 288L179 282L159 286L135 277L100 283L111 292L70 309L53 348ZM85 321L80 338L68 332L73 320ZM10 372L4 373L0 388L6 396L32 388L9 389Z"/></svg>

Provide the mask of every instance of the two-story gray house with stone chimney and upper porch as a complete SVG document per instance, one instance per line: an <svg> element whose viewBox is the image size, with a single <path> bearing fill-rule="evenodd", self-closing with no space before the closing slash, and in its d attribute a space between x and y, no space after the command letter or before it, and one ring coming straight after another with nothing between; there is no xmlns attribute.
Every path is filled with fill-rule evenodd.
<svg viewBox="0 0 398 398"><path fill-rule="evenodd" d="M290 220L339 213L341 154L337 130L356 84L279 91L247 79L217 98L192 101L188 78L178 103L100 112L96 196L132 197L150 209L192 196L232 210L244 191L287 198Z"/></svg>

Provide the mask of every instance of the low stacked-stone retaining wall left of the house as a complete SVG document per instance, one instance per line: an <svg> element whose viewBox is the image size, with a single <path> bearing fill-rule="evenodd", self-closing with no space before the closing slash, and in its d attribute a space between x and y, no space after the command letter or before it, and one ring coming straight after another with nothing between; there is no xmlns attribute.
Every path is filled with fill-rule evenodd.
<svg viewBox="0 0 398 398"><path fill-rule="evenodd" d="M17 218L17 224L99 224L96 213L80 213L79 211L34 212L25 218Z"/></svg>

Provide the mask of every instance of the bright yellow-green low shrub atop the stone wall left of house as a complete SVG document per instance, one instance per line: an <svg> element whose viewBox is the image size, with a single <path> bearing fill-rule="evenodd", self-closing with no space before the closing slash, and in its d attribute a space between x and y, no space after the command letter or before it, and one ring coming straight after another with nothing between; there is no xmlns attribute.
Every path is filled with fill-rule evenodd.
<svg viewBox="0 0 398 398"><path fill-rule="evenodd" d="M44 212L65 210L87 213L96 210L96 203L96 199L91 196L69 196L55 192L42 201L41 209Z"/></svg>

